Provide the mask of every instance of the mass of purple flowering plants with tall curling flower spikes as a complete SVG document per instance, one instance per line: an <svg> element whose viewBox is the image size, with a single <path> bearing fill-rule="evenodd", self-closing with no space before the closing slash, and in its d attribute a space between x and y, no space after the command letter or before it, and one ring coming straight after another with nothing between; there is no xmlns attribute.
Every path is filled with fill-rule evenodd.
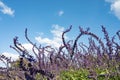
<svg viewBox="0 0 120 80"><path fill-rule="evenodd" d="M66 41L64 35L71 28L72 26L63 31L63 44L58 49L52 46L37 46L28 38L26 29L25 38L33 45L32 51L35 57L22 46L18 37L15 37L14 46L10 47L19 53L20 59L12 63L9 58L0 55L0 60L7 66L6 78L12 80L13 76L18 76L32 80L120 80L120 44L118 43L120 30L116 32L116 36L110 38L105 27L102 26L106 40L103 42L96 34L90 32L89 28L84 30L79 27L80 33L75 40ZM89 36L88 45L78 43L84 35ZM115 38L118 38L118 42ZM48 52L47 56L46 52ZM12 74L12 71L16 73ZM19 75L17 72L20 72Z"/></svg>

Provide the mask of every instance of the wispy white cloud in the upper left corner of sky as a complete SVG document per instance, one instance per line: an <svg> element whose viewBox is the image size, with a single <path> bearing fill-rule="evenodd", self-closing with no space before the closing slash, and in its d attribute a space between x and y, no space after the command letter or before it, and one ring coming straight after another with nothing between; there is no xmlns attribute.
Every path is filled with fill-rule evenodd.
<svg viewBox="0 0 120 80"><path fill-rule="evenodd" d="M7 14L10 16L14 16L14 10L12 10L10 7L8 7L7 5L5 5L2 1L0 1L0 11L3 14Z"/></svg>

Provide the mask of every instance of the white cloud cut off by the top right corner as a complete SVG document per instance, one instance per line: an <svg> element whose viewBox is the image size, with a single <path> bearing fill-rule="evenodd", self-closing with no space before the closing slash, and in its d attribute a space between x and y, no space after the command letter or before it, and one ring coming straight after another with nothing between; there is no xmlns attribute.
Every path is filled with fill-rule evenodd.
<svg viewBox="0 0 120 80"><path fill-rule="evenodd" d="M105 0L111 4L110 8L113 14L120 19L120 0Z"/></svg>

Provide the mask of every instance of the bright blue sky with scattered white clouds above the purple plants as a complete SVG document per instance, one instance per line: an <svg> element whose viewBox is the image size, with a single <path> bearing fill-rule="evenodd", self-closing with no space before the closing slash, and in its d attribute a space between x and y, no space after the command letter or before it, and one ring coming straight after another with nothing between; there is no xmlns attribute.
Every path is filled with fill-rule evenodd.
<svg viewBox="0 0 120 80"><path fill-rule="evenodd" d="M120 29L120 0L0 0L0 53L14 53L9 45L15 36L30 46L25 28L31 40L58 47L61 32L70 25L72 31L66 36L70 38L79 33L79 26L103 36L104 25L114 35Z"/></svg>

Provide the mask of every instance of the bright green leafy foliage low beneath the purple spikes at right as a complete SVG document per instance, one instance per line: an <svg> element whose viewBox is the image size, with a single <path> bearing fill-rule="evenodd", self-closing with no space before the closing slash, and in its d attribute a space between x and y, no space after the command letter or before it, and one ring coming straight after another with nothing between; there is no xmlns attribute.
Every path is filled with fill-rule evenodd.
<svg viewBox="0 0 120 80"><path fill-rule="evenodd" d="M94 69L96 71L96 76L93 76L94 79L97 80L120 80L120 74L111 74L108 69ZM61 71L59 80L93 80L93 78L89 78L90 75L89 70L87 69L79 69L79 70L65 70Z"/></svg>

